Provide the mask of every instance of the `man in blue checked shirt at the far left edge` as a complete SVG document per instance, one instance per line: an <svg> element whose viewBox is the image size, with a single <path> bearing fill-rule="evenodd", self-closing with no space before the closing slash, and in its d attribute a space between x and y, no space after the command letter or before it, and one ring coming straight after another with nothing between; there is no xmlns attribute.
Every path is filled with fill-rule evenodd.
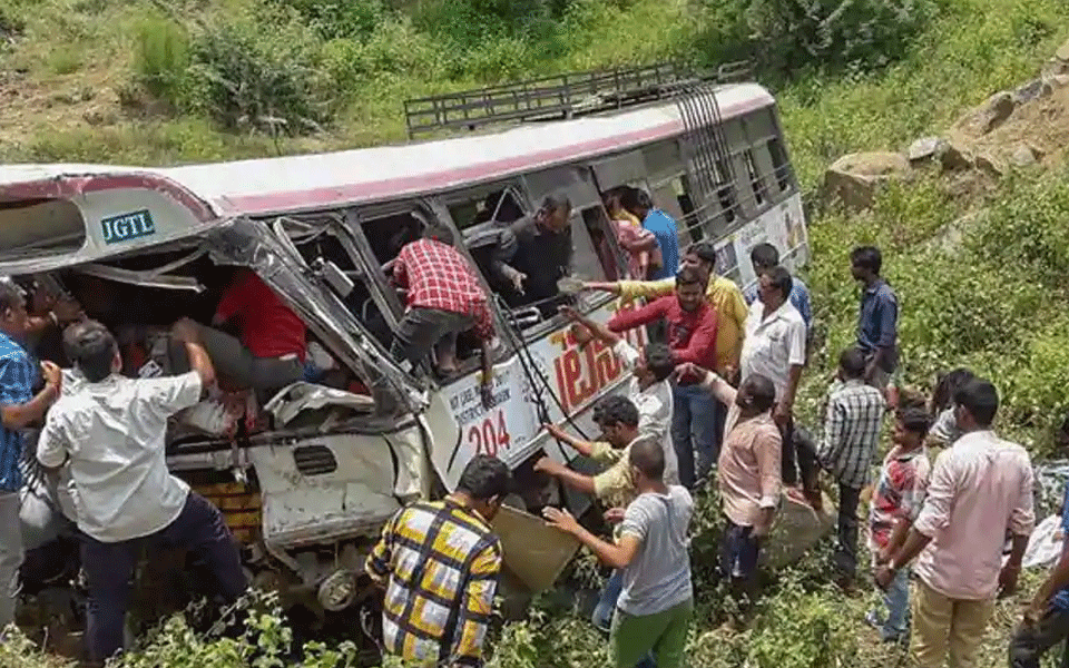
<svg viewBox="0 0 1069 668"><path fill-rule="evenodd" d="M22 528L19 491L22 489L22 430L43 418L59 399L60 372L50 362L41 365L45 387L33 393L37 365L19 343L29 328L22 292L9 279L0 281L0 629L14 622L19 567L22 564Z"/></svg>

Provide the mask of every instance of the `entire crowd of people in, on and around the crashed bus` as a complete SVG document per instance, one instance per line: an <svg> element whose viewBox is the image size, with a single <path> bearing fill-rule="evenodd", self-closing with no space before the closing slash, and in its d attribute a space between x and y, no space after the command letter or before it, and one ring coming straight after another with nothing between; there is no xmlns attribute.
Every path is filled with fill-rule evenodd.
<svg viewBox="0 0 1069 668"><path fill-rule="evenodd" d="M549 524L611 569L592 623L608 637L612 666L687 664L700 596L688 550L693 494L710 485L719 491L719 572L746 610L761 595L757 570L777 512L786 502L822 510L822 471L837 488L834 563L847 593L857 590L863 568L859 510L871 497L864 533L872 561L864 567L872 568L883 606L859 622L872 625L884 641L911 636L922 668L977 665L996 598L1017 588L1034 524L1032 468L1022 446L992 431L999 397L989 381L955 370L940 380L931 401L890 391L899 364L899 302L881 275L877 248L862 246L850 256L860 284L856 336L838 356L822 423L807 430L796 424L794 404L812 352L811 295L774 246L752 249L757 282L744 294L717 275L712 244L680 253L675 222L648 196L632 188L610 191L606 207L634 273L582 288L645 303L601 324L570 306L557 286L570 263L570 203L550 197L532 216L503 222L502 202L464 239L487 266L459 252L443 226L426 226L400 250L390 271L408 308L391 353L406 369L444 377L457 370L458 335L473 334L482 352L482 400L491 404L494 324L482 269L514 293L560 297L555 308L575 341L598 342L630 372L622 393L594 406L596 440L545 425L568 450L600 462L600 472L582 473L549 456L533 464L545 480L595 498L612 528L601 536L566 509L543 510ZM531 254L517 255L518 247L536 249L545 262L524 264ZM261 278L242 271L214 326L187 318L174 324L175 356L188 372L129 377L122 373L128 360L107 327L69 301L36 301L35 294L28 312L22 291L0 282L0 626L13 620L23 551L23 432L37 424L31 455L47 470L66 471L76 491L89 655L104 661L124 646L130 580L144 544L180 544L198 553L222 601L245 591L248 582L219 511L167 470L167 422L218 383L264 393L305 377L306 333ZM237 321L238 336L216 328L227 321ZM650 334L643 350L622 335L638 327ZM37 362L28 342L47 331L62 332L70 369ZM874 466L885 425L891 449ZM481 665L503 559L492 522L512 491L509 468L478 455L452 493L411 504L383 528L365 570L384 590L385 651L438 665ZM1069 530L1069 489L1066 494ZM1038 666L1067 636L1063 556L1024 615L1010 666Z"/></svg>

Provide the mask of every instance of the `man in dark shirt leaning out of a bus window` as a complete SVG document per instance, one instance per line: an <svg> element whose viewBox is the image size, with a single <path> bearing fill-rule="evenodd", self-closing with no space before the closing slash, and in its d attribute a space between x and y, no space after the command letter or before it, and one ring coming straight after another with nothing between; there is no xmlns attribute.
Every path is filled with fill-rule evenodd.
<svg viewBox="0 0 1069 668"><path fill-rule="evenodd" d="M547 196L533 215L513 222L498 215L467 230L465 245L473 256L489 256L487 274L510 306L537 304L552 317L557 282L571 268L571 202Z"/></svg>

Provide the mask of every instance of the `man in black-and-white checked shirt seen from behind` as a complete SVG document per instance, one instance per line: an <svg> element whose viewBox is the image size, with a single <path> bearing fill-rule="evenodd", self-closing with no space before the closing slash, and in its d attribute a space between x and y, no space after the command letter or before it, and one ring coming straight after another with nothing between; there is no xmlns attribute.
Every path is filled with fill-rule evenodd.
<svg viewBox="0 0 1069 668"><path fill-rule="evenodd" d="M869 484L885 412L883 392L865 384L865 354L860 348L847 348L838 357L838 379L828 392L824 435L816 452L800 442L800 459L815 456L838 483L835 566L847 588L857 571L857 504L861 490ZM816 471L816 466L801 469L814 474ZM817 489L815 481L807 481L805 487Z"/></svg>

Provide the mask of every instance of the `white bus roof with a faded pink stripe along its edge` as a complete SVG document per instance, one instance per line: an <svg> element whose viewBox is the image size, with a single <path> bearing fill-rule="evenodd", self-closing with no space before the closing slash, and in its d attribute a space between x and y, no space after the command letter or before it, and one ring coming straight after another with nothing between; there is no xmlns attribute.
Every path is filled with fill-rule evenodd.
<svg viewBox="0 0 1069 668"><path fill-rule="evenodd" d="M774 104L756 84L717 90L720 115ZM527 124L486 135L340 153L169 168L105 165L0 166L0 203L77 200L90 191L149 189L206 223L268 216L444 191L617 153L680 134L675 104L605 116Z"/></svg>

